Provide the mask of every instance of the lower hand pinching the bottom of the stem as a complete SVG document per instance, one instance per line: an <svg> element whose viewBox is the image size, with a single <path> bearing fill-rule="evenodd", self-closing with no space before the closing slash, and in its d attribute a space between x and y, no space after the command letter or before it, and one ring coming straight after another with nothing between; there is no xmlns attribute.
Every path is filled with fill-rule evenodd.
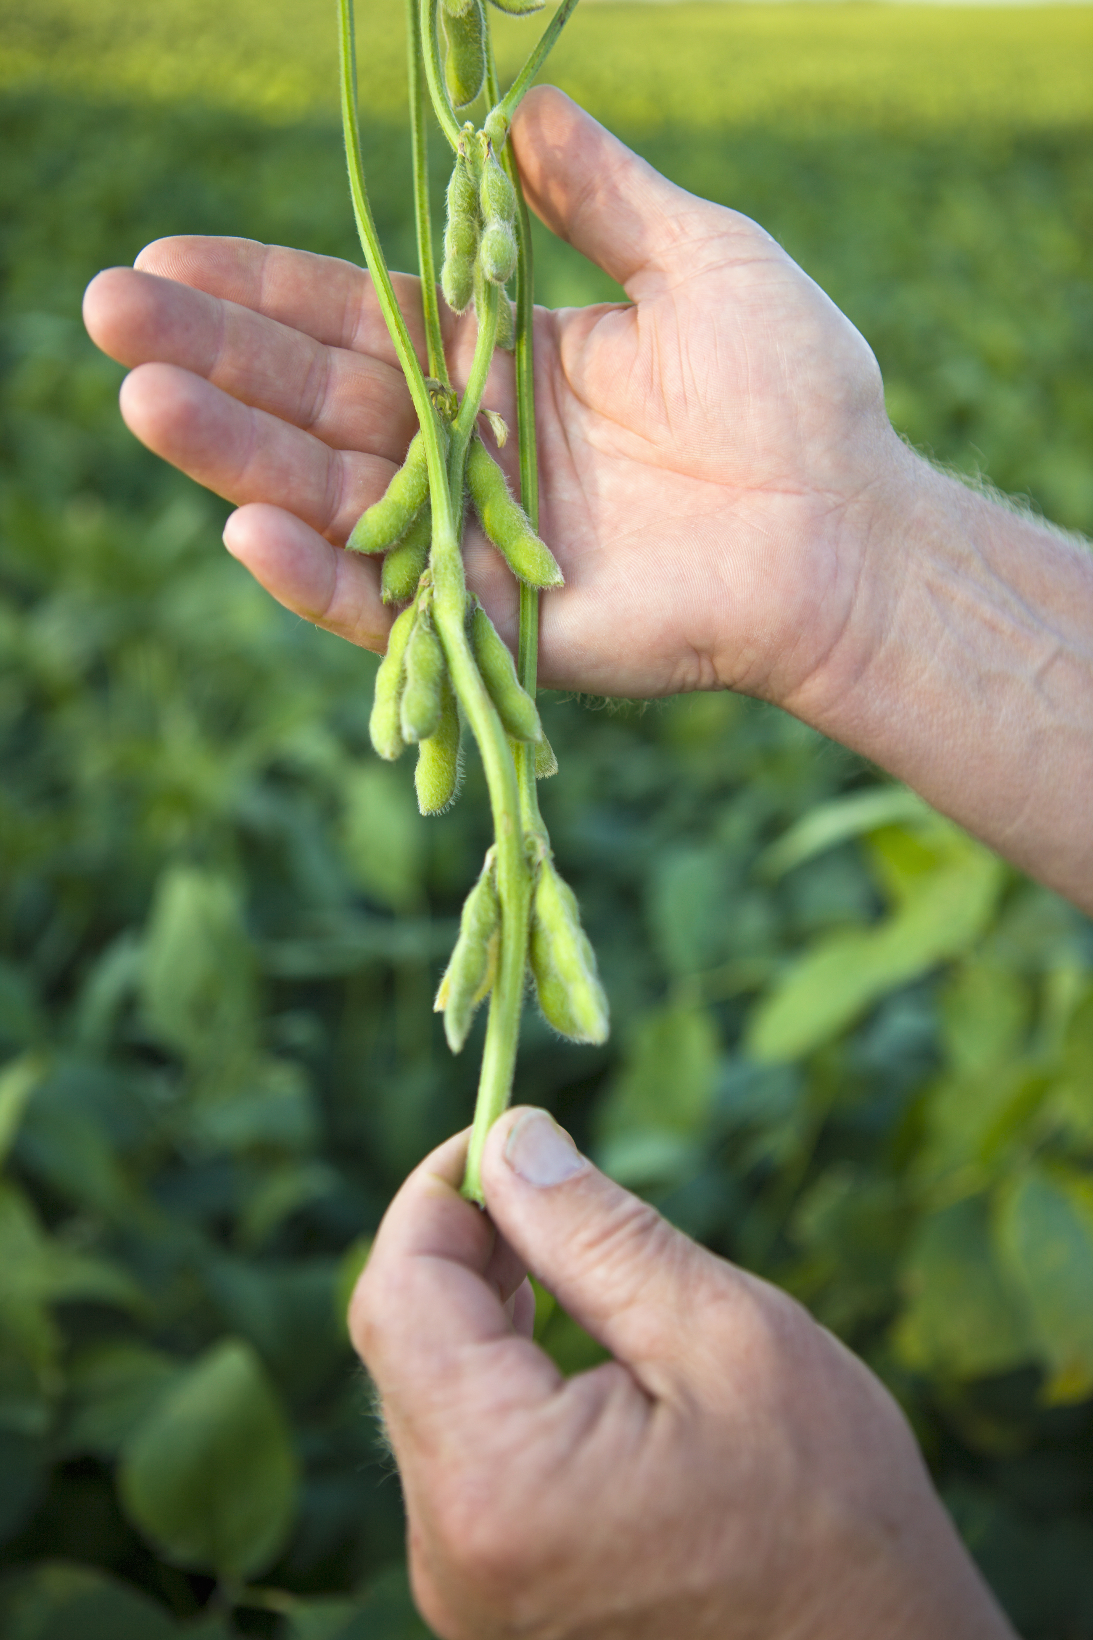
<svg viewBox="0 0 1093 1640"><path fill-rule="evenodd" d="M442 1640L1013 1640L895 1402L513 1110L411 1174L351 1307ZM497 1228L495 1228L497 1227ZM564 1379L531 1268L613 1361Z"/></svg>

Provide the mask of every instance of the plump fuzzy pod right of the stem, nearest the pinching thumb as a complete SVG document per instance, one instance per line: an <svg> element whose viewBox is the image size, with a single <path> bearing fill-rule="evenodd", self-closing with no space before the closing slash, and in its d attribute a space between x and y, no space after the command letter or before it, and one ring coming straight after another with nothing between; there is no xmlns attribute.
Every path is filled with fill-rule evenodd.
<svg viewBox="0 0 1093 1640"><path fill-rule="evenodd" d="M577 895L562 882L549 854L536 876L528 954L547 1025L570 1041L606 1041L608 999L596 958L580 927Z"/></svg>

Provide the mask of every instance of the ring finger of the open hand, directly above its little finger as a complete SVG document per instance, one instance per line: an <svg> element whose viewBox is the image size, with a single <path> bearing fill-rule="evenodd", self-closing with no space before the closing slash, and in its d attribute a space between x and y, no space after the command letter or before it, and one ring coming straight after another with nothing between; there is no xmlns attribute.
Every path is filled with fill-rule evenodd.
<svg viewBox="0 0 1093 1640"><path fill-rule="evenodd" d="M349 536L395 472L392 461L331 449L175 364L131 371L121 415L143 444L206 489L238 505L285 507L333 541Z"/></svg>

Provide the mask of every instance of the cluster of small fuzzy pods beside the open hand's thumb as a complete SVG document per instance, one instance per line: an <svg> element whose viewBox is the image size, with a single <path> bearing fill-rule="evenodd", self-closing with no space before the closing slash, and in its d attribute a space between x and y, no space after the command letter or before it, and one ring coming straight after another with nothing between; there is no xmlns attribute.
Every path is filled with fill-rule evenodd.
<svg viewBox="0 0 1093 1640"><path fill-rule="evenodd" d="M465 125L447 184L444 300L454 313L464 313L475 297L475 282L478 287L482 282L503 285L515 272L516 190L497 157L492 134ZM511 325L506 300L501 315ZM500 341L505 346L505 336Z"/></svg>

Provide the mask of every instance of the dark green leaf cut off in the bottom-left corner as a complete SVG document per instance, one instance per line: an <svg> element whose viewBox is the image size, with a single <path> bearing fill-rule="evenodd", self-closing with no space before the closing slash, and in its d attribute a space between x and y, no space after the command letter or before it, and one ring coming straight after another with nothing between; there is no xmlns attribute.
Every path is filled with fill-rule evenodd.
<svg viewBox="0 0 1093 1640"><path fill-rule="evenodd" d="M46 1561L0 1592L5 1640L172 1640L174 1619L139 1589L90 1566Z"/></svg>

